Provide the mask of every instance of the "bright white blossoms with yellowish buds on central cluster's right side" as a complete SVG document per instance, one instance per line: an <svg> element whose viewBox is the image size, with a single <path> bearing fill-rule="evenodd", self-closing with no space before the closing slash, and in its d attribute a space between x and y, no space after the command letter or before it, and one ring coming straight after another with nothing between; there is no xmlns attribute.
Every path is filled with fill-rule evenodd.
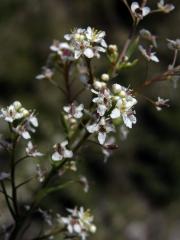
<svg viewBox="0 0 180 240"><path fill-rule="evenodd" d="M130 95L130 90L119 84L113 85L113 92L116 94L116 104L110 117L112 119L121 118L128 128L132 128L132 124L136 123L135 111L132 108L137 100Z"/></svg>

